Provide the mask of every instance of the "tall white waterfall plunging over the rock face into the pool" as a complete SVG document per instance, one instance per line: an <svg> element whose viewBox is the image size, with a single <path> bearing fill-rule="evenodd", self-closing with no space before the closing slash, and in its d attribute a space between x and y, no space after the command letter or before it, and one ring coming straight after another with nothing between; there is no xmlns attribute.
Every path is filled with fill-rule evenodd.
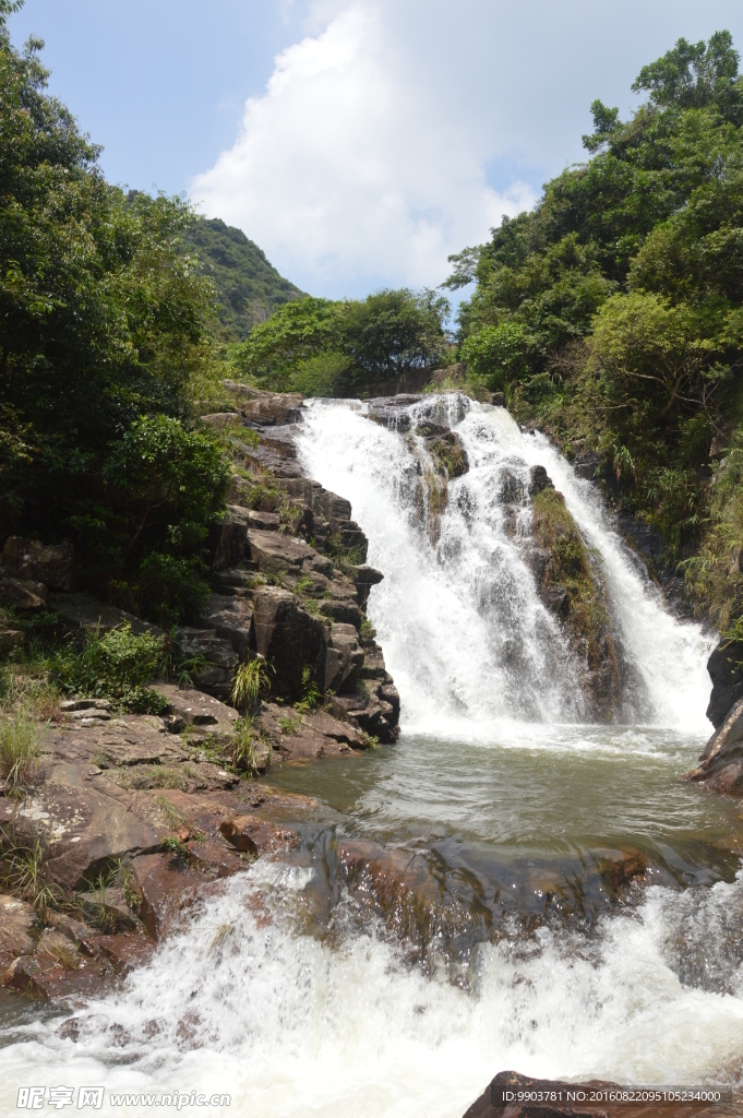
<svg viewBox="0 0 743 1118"><path fill-rule="evenodd" d="M468 472L449 482L435 542L416 517L415 434L371 421L366 404L313 400L298 440L309 476L351 500L369 562L384 574L369 610L400 690L403 728L471 738L514 721L585 720L580 665L540 598L503 498L506 475L526 486L530 467L542 465L601 565L612 627L639 681L634 720L708 732L701 628L666 612L596 487L503 408L447 394L403 410L408 432L431 418L451 427L469 459ZM520 511L522 521L530 515Z"/></svg>

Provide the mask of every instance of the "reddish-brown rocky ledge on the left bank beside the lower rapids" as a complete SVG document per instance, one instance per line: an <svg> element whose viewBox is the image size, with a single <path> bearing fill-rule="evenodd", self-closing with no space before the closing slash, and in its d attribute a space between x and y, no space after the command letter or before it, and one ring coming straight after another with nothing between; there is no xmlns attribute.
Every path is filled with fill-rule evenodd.
<svg viewBox="0 0 743 1118"><path fill-rule="evenodd" d="M116 982L221 879L286 856L297 827L327 814L240 778L236 710L194 689L158 690L168 702L158 718L115 717L101 700L63 704L29 790L0 798L4 875L21 885L0 893L7 987L48 999ZM365 748L326 711L292 714L264 704L257 766Z"/></svg>

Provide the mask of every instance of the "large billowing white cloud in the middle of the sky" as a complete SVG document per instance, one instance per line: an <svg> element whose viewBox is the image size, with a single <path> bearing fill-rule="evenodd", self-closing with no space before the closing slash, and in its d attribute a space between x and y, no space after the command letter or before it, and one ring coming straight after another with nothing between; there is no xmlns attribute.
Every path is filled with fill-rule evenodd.
<svg viewBox="0 0 743 1118"><path fill-rule="evenodd" d="M327 18L276 57L235 145L191 197L313 293L434 286L449 253L531 206L533 190L487 184L487 153L410 64L383 9L359 2Z"/></svg>

